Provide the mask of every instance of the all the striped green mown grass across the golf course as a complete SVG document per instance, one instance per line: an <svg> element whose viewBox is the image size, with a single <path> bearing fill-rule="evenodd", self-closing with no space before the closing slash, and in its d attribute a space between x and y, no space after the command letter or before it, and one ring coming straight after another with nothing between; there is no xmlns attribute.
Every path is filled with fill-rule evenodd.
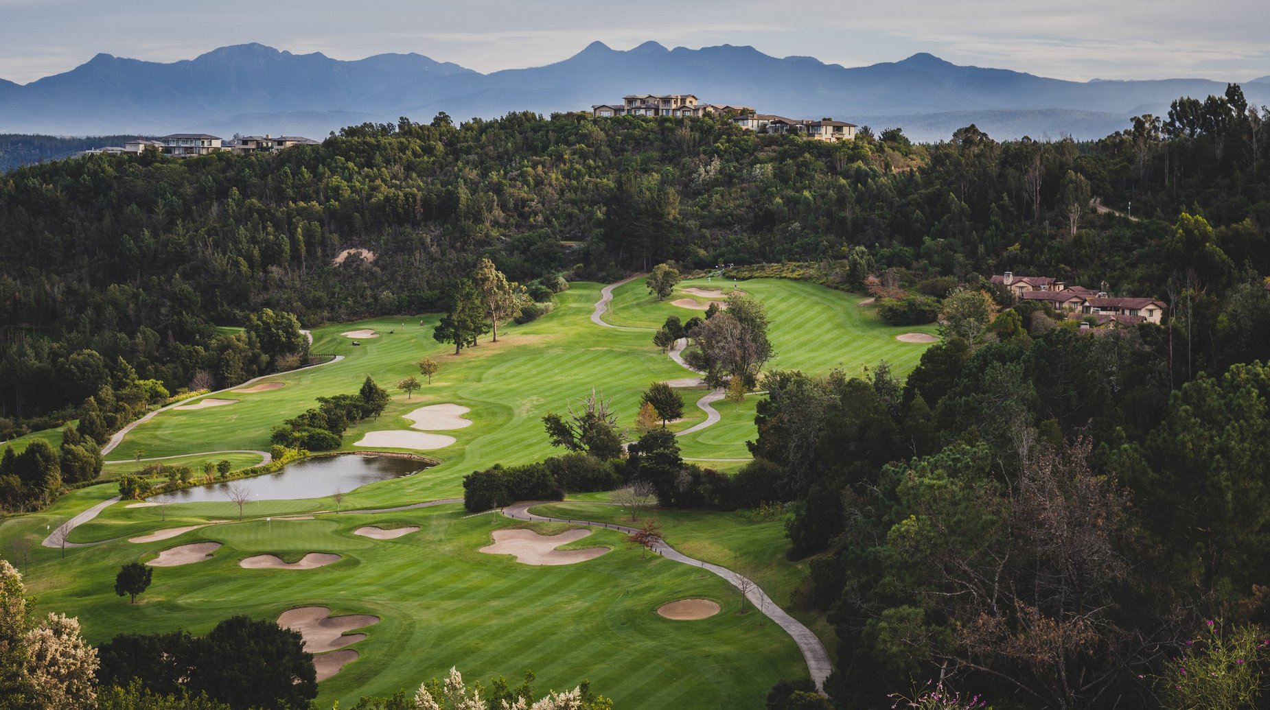
<svg viewBox="0 0 1270 710"><path fill-rule="evenodd" d="M698 282L700 283L700 282ZM704 283L702 283L704 285ZM691 286L687 283L685 286ZM819 286L756 279L742 287L761 298L772 320L777 351L773 367L827 372L842 367L853 375L885 358L900 373L917 362L923 345L894 340L913 329L888 328L859 297ZM564 412L570 401L603 391L632 425L640 392L650 382L681 378L687 372L652 343L645 330L599 328L589 315L601 285L574 283L559 296L554 312L527 324L500 329L500 342L452 354L432 339L437 316L380 318L314 329L314 352L337 353L333 365L269 377L284 386L265 392L218 394L235 399L226 406L169 410L141 424L108 455L112 460L184 456L165 462L201 466L203 460L230 459L235 467L254 464L249 455L203 455L225 450L267 450L271 429L314 406L318 396L356 392L370 375L385 387L418 375L423 357L441 362L434 382L406 399L394 399L375 420L349 429L344 450L361 450L366 432L408 429L403 414L428 404L469 406L472 425L442 432L457 441L422 452L439 464L409 478L358 488L344 509L382 508L458 497L461 479L494 464L525 464L559 453L549 446L541 417ZM681 297L677 293L673 298ZM672 300L673 300L672 298ZM657 326L668 312L685 320L700 311L659 304L641 279L617 288L610 323ZM354 347L343 332L371 328L378 338ZM919 330L919 329L918 329ZM704 389L685 390L687 422L702 419L696 400ZM747 459L745 441L756 436L753 412L763 395L751 395L737 412L719 401L723 420L681 438L686 457ZM52 436L52 434L47 434ZM735 469L742 462L701 462ZM135 464L112 466L130 470ZM50 527L109 498L114 485L77 490L37 514L0 521L0 550L14 554L14 541L38 545ZM588 498L602 499L602 494ZM147 531L211 519L235 519L229 503L184 503L164 508L109 507L79 527L76 542L109 540L100 546L30 553L29 589L41 607L75 615L94 641L127 630L184 626L206 631L234 612L276 617L288 606L318 603L337 612L378 613L384 622L357 645L362 660L323 683L323 702L343 705L362 693L414 687L442 676L451 666L475 678L518 676L532 668L540 687L563 688L591 678L597 691L620 707L761 706L779 677L801 677L805 666L792 641L775 625L757 626L753 615L738 617L738 597L712 575L662 559L640 560L616 533L597 531L592 540L616 549L596 560L558 568L528 568L503 558L478 554L491 527L511 525L494 514L465 518L460 507L443 506L373 516L323 516L318 521L264 522L265 516L314 513L334 508L328 499L253 502L248 522L215 525L178 539L132 545L127 537ZM588 507L589 519L617 511ZM805 577L805 563L784 561L787 542L780 522L756 523L734 513L663 513L667 539L690 555L737 566L775 598L786 601ZM349 535L367 523L414 523L423 531L399 541L370 541ZM673 528L672 528L673 523ZM272 525L272 530L271 526ZM116 540L119 539L119 540ZM190 566L160 569L155 587L132 607L114 597L112 582L119 564L150 559L159 550L192 540L225 544L217 558ZM19 545L20 546L20 545ZM310 572L243 570L236 560L254 553L300 554L334 551L345 559ZM724 602L724 613L697 622L669 622L652 613L657 605L685 596ZM815 617L804 619L823 639L832 633ZM832 645L832 644L831 644Z"/></svg>

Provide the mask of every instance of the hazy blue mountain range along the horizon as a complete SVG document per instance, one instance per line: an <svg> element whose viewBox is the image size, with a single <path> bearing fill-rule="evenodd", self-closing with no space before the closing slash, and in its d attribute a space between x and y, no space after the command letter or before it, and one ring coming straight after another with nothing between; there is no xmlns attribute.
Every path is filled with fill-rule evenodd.
<svg viewBox="0 0 1270 710"><path fill-rule="evenodd" d="M1132 116L1165 113L1177 97L1224 90L1204 79L1063 81L927 53L848 69L730 44L667 50L645 42L616 51L594 42L547 66L479 74L414 53L340 61L239 44L171 64L98 55L27 85L0 80L0 131L320 138L349 123L428 121L438 111L462 119L588 109L632 93L692 93L763 113L902 126L917 140L946 138L968 123L999 138L1100 137ZM1270 103L1270 76L1245 84L1245 93L1250 103Z"/></svg>

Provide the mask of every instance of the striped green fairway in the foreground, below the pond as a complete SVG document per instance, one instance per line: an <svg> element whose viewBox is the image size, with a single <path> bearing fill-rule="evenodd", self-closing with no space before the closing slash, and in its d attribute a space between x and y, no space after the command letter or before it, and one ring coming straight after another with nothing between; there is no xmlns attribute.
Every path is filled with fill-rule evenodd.
<svg viewBox="0 0 1270 710"><path fill-rule="evenodd" d="M352 535L370 523L423 530L394 541ZM39 610L79 616L91 643L124 629L206 633L234 613L276 619L301 605L380 616L366 630L368 638L353 646L361 659L321 683L323 707L411 690L456 664L481 680L532 669L541 691L589 678L627 710L761 707L776 680L805 677L792 640L773 624L759 625L753 612L738 615L739 596L718 577L662 558L640 559L624 536L606 530L575 546L612 551L574 565L530 566L478 553L491 530L513 525L498 514L465 517L460 506L257 519L147 545L71 549L66 560L56 550L37 550L24 572ZM114 594L112 579L121 564L203 540L224 544L211 560L156 569L136 606ZM254 554L293 558L307 551L344 559L302 572L237 566ZM654 613L686 597L715 599L723 612L691 622Z"/></svg>

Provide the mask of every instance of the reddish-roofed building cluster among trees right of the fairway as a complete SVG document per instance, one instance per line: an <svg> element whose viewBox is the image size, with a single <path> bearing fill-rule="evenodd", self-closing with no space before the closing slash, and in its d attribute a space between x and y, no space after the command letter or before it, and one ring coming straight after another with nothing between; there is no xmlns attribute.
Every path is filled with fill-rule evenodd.
<svg viewBox="0 0 1270 710"><path fill-rule="evenodd" d="M1005 287L1016 300L1041 301L1055 311L1067 312L1067 318L1073 320L1093 316L1095 328L1119 328L1139 323L1160 325L1165 314L1163 301L1109 296L1105 291L1068 286L1048 276L1015 276L1012 272L1006 272L993 276L992 283Z"/></svg>

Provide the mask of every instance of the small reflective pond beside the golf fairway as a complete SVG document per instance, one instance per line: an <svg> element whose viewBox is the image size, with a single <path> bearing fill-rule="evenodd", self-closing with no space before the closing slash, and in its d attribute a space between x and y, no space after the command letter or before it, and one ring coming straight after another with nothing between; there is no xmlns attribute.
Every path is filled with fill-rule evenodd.
<svg viewBox="0 0 1270 710"><path fill-rule="evenodd" d="M337 490L348 493L368 483L395 479L424 467L427 465L423 461L394 456L323 456L287 464L276 474L198 485L163 495L152 495L149 500L155 503L224 502L230 499L229 489L235 483L250 489L251 500L325 498Z"/></svg>

